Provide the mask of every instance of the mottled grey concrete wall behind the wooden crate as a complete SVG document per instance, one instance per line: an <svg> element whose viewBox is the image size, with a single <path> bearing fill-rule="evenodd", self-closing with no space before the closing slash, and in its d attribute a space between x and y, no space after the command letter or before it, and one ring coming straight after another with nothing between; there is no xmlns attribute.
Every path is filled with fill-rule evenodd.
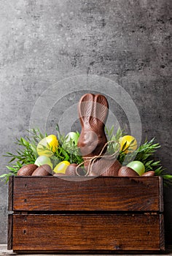
<svg viewBox="0 0 172 256"><path fill-rule="evenodd" d="M31 110L48 86L73 75L100 75L128 91L141 116L143 138L157 138L162 145L157 157L172 173L170 13L171 0L0 0L0 154L13 151L15 137L26 135ZM50 128L66 102L52 111ZM1 173L5 165L1 157ZM168 243L171 219L169 188ZM1 183L0 244L6 241L7 185Z"/></svg>

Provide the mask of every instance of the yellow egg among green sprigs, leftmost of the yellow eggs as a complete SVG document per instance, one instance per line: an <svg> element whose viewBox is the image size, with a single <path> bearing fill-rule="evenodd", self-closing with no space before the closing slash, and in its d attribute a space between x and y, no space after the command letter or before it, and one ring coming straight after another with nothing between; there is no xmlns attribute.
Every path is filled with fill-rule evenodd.
<svg viewBox="0 0 172 256"><path fill-rule="evenodd" d="M39 141L36 150L39 156L52 157L53 152L55 152L58 147L58 139L55 135L49 135Z"/></svg>

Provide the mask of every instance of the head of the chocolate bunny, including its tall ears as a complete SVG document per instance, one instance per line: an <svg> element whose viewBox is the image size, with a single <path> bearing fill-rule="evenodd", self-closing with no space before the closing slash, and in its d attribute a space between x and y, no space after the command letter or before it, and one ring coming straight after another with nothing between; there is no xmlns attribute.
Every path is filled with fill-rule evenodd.
<svg viewBox="0 0 172 256"><path fill-rule="evenodd" d="M101 153L107 139L104 125L109 112L109 105L101 94L85 94L78 105L79 120L82 132L77 146L85 157L94 157Z"/></svg>

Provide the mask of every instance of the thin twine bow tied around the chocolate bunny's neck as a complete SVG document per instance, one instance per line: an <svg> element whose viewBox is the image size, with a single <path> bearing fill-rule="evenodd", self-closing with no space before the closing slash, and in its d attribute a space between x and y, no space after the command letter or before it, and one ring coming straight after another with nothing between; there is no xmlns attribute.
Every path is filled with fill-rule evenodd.
<svg viewBox="0 0 172 256"><path fill-rule="evenodd" d="M109 145L109 143L117 143L117 141L115 140L109 140L108 142L106 142L106 144L103 146L103 148L101 149L101 152L100 154L98 154L98 156L94 156L94 157L85 157L85 161L81 162L79 165L77 165L77 168L76 168L76 173L77 173L77 176L81 176L79 175L78 173L78 168L82 165L84 165L86 162L89 162L88 164L88 167L87 167L87 173L85 173L85 176L88 176L88 174L91 173L92 171L92 168L93 168L93 164L95 162L96 159L98 158L104 158L104 159L113 159L114 157L116 157L116 155L119 153L120 151L120 143L117 143L119 145L119 148L117 149L117 151L115 151L113 154L110 154L110 155L106 155L106 154L103 154L103 150L104 148L106 148L107 145Z"/></svg>

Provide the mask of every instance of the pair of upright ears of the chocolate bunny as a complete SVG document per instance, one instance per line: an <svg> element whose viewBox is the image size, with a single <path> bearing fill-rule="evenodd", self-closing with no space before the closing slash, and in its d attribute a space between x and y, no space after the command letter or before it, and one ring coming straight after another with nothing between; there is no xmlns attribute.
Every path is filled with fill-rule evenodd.
<svg viewBox="0 0 172 256"><path fill-rule="evenodd" d="M82 127L98 127L105 124L108 116L108 102L101 94L85 94L79 101L78 110Z"/></svg>

